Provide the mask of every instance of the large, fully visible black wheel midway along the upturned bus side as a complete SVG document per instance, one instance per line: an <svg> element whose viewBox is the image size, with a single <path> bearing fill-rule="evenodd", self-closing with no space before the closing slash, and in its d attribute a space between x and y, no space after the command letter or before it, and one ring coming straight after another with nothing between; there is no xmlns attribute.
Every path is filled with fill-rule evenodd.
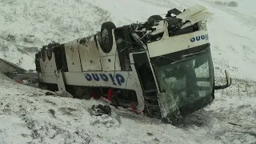
<svg viewBox="0 0 256 144"><path fill-rule="evenodd" d="M113 45L113 35L112 29L115 29L116 26L113 22L104 22L102 23L101 29L101 42L100 46L104 53L109 53L112 50Z"/></svg>

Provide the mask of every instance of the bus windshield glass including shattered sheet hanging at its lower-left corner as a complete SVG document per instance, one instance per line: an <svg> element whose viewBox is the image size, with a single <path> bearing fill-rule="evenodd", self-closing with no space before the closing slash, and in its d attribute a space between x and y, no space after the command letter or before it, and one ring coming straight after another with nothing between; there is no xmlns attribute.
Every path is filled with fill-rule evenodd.
<svg viewBox="0 0 256 144"><path fill-rule="evenodd" d="M180 118L179 109L197 109L212 97L213 70L210 52L173 61L158 58L153 64L160 93L163 118Z"/></svg>

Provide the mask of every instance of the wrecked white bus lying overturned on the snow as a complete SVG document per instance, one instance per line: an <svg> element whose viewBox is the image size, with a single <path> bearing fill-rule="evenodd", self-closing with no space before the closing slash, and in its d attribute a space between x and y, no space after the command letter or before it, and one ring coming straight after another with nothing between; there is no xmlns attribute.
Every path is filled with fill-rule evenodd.
<svg viewBox="0 0 256 144"><path fill-rule="evenodd" d="M116 27L104 22L101 31L63 44L50 43L35 54L39 85L66 90L74 98L105 97L113 106L174 122L214 100L214 66L203 6L166 18ZM114 91L114 98L110 98Z"/></svg>

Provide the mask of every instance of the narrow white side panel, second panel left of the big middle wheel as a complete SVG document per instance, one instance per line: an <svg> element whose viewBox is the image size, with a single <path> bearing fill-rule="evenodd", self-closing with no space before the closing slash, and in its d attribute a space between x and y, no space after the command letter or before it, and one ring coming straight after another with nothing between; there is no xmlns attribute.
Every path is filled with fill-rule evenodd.
<svg viewBox="0 0 256 144"><path fill-rule="evenodd" d="M65 45L66 63L70 72L81 72L81 62L77 42L68 42Z"/></svg>

